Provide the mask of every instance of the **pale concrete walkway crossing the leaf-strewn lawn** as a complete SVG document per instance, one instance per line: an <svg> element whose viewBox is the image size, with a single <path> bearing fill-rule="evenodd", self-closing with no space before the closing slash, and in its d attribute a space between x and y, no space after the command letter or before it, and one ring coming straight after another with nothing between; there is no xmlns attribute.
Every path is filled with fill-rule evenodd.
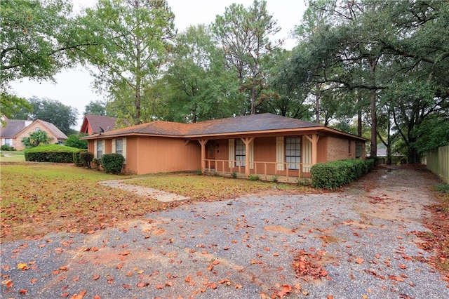
<svg viewBox="0 0 449 299"><path fill-rule="evenodd" d="M144 197L152 197L158 201L170 202L170 201L182 201L189 199L189 197L183 197L182 195L157 190L150 187L143 187L140 185L131 185L123 182L124 180L103 180L99 182L101 185L119 188L128 192L133 192Z"/></svg>

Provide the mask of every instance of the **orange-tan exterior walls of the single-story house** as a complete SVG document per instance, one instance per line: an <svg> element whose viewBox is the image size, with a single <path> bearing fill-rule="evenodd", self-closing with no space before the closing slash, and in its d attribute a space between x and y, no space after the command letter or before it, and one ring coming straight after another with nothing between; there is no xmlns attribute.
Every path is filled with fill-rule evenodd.
<svg viewBox="0 0 449 299"><path fill-rule="evenodd" d="M303 142L305 138L303 138ZM229 167L229 140L209 140L206 144L213 145L216 171L234 172L236 167ZM94 141L89 140L88 151L94 151ZM355 157L356 143L351 141L349 154L348 140L332 136L320 136L317 148L317 162L335 161ZM106 140L104 153L112 152L112 139ZM305 158L305 152L304 159ZM308 153L310 156L310 153ZM234 159L234 157L232 157ZM308 157L307 159L310 159ZM276 171L276 137L258 137L254 140L255 162L250 173L264 173L265 166L257 162L271 162L266 164L268 174L286 175L286 170ZM304 163L304 161L303 161ZM310 163L310 161L309 161ZM305 166L305 165L304 165ZM309 167L309 166L308 166ZM206 163L206 168L208 164ZM146 174L173 171L196 171L201 169L201 145L196 140L187 143L182 138L163 138L147 136L131 136L126 138L126 173ZM241 171L244 172L244 167ZM306 168L304 168L306 169ZM305 172L308 172L307 171ZM298 171L288 170L288 175L298 175Z"/></svg>

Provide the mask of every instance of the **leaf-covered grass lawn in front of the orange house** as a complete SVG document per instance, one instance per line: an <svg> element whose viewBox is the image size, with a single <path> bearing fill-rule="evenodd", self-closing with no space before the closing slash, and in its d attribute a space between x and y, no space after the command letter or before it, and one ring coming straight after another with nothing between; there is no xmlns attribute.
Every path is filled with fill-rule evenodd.
<svg viewBox="0 0 449 299"><path fill-rule="evenodd" d="M122 220L141 218L152 211L167 208L167 204L154 199L98 184L101 180L135 178L136 175L109 175L73 164L6 163L9 158L1 157L1 242L58 231L91 233L114 227ZM260 192L313 191L274 182L185 173L152 175L132 180L132 183L199 201Z"/></svg>

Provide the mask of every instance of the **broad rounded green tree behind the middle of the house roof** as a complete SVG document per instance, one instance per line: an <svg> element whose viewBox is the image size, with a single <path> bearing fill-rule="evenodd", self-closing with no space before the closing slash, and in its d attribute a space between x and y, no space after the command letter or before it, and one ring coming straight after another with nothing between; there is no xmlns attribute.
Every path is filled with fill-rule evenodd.
<svg viewBox="0 0 449 299"><path fill-rule="evenodd" d="M172 120L196 122L239 113L238 83L224 67L222 53L206 25L177 34L170 57L163 80Z"/></svg>

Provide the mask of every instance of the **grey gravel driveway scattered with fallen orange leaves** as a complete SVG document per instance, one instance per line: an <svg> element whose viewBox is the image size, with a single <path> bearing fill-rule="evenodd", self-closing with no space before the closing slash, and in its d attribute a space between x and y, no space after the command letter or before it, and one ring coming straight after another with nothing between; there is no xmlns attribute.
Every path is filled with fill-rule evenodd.
<svg viewBox="0 0 449 299"><path fill-rule="evenodd" d="M1 244L1 298L448 298L412 233L436 182L377 169L343 192L184 204Z"/></svg>

